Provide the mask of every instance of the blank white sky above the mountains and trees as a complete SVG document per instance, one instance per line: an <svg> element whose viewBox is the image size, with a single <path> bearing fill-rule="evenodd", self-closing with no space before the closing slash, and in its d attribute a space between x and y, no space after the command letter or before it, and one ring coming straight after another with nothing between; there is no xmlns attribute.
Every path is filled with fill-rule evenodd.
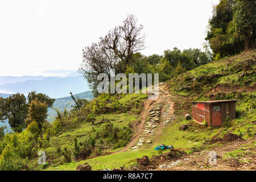
<svg viewBox="0 0 256 182"><path fill-rule="evenodd" d="M202 48L218 0L1 0L0 76L77 69L82 49L135 14L147 34L144 55Z"/></svg>

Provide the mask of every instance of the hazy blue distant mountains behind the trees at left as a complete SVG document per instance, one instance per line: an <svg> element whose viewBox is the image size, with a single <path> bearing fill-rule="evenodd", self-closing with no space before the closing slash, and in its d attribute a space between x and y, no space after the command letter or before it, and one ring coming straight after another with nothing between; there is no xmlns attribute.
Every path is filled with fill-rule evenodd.
<svg viewBox="0 0 256 182"><path fill-rule="evenodd" d="M27 97L29 92L36 91L51 98L56 98L53 107L60 111L65 106L67 106L67 109L71 109L71 105L75 104L69 95L70 92L76 98L86 98L86 100L93 98L86 80L77 71L60 69L46 71L44 74L56 76L0 76L0 97L9 97L11 93L23 93ZM54 109L48 109L48 121L53 121L55 115L56 111ZM0 122L0 126L5 125L10 131L8 121Z"/></svg>

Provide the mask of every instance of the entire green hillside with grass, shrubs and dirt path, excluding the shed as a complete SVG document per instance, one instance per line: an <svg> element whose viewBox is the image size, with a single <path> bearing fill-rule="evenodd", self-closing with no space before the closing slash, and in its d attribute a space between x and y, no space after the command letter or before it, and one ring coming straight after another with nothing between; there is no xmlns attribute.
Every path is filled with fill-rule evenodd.
<svg viewBox="0 0 256 182"><path fill-rule="evenodd" d="M123 166L141 169L138 158L147 155L154 160L168 152L162 154L154 150L160 143L179 149L178 156L185 155L182 151L190 156L225 146L221 138L230 132L250 140L255 136L256 121L255 55L253 49L182 73L160 86L160 96L155 101L147 100L147 94L141 93L101 94L86 102L82 109L59 113L53 123L44 123L41 135L36 122L31 122L21 133L2 136L0 167L76 170L80 164L88 163L93 170ZM237 118L225 121L222 127L203 126L184 119L184 114L191 114L189 102L222 99L239 100ZM148 107L143 102L147 102ZM148 123L153 108L161 110L159 121L155 123L154 133L145 134L148 130L144 125L151 126ZM166 116L167 113L170 115ZM180 131L184 123L188 129ZM139 127L144 132L140 133ZM142 140L143 144L134 150ZM135 143L127 147L131 142ZM46 164L38 164L38 151L46 152ZM254 155L253 151L248 155ZM245 155L243 149L236 148L224 156ZM223 160L226 159L223 157Z"/></svg>

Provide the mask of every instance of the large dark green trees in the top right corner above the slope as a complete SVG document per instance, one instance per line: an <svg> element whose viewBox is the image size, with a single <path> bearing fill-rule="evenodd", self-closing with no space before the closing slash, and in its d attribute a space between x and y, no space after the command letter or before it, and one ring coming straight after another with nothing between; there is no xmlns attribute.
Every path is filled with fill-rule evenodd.
<svg viewBox="0 0 256 182"><path fill-rule="evenodd" d="M209 19L209 40L216 59L234 55L255 46L256 2L221 0L216 16Z"/></svg>

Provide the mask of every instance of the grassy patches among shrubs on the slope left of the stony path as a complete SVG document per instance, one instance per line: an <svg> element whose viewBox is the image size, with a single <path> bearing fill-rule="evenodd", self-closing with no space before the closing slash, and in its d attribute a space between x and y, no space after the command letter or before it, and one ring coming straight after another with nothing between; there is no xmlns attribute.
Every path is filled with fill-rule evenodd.
<svg viewBox="0 0 256 182"><path fill-rule="evenodd" d="M144 99L147 98L147 94L127 94L123 96L119 102L121 105L127 105L132 100L135 104L141 103ZM60 135L55 137L51 137L49 140L49 146L47 148L42 148L43 151L47 154L47 162L51 163L51 167L56 167L64 163L64 157L61 154L57 154L56 146L60 145L61 150L67 147L69 151L74 151L74 138L77 138L77 143L84 142L84 140L88 139L90 136L95 137L96 132L100 130L102 124L97 125L97 123L102 121L102 118L109 119L114 125L118 125L120 128L123 126L128 126L133 121L138 121L138 108L134 107L131 112L127 113L106 113L96 116L96 121L94 121L94 125L88 122L82 122L79 125L75 125L73 128L70 128ZM94 131L93 131L94 129ZM96 146L100 146L100 141L96 140ZM105 152L114 152L120 150L112 150L112 146L108 146L105 144L105 150L102 151L102 154ZM75 155L72 155L72 160L75 160ZM72 163L71 163L72 164ZM71 165L69 164L69 165ZM37 158L32 159L30 162L30 166L34 169L42 169L42 166L38 166ZM50 168L51 169L51 168ZM70 168L67 168L70 169Z"/></svg>

